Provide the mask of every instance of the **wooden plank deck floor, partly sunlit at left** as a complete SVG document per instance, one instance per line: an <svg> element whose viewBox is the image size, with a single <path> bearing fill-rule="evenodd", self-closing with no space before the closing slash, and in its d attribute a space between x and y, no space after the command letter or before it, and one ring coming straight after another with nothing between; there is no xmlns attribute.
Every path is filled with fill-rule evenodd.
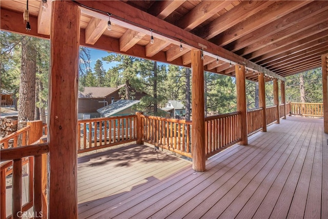
<svg viewBox="0 0 328 219"><path fill-rule="evenodd" d="M328 218L322 119L288 117L207 161L145 146L78 159L79 218ZM147 170L147 171L146 171Z"/></svg>

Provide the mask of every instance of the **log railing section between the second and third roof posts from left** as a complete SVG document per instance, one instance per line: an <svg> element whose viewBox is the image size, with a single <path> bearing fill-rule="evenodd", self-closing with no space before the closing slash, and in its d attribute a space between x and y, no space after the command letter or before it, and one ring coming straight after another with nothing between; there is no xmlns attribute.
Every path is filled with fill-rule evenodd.
<svg viewBox="0 0 328 219"><path fill-rule="evenodd" d="M240 142L240 112L205 118L205 146L207 158Z"/></svg>

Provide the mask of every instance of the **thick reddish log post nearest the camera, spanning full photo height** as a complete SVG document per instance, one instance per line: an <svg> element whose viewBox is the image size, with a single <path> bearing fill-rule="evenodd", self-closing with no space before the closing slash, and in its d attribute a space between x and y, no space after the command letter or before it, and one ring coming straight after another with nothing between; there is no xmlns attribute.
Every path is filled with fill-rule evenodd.
<svg viewBox="0 0 328 219"><path fill-rule="evenodd" d="M80 10L52 2L49 82L49 218L77 218L77 91Z"/></svg>

